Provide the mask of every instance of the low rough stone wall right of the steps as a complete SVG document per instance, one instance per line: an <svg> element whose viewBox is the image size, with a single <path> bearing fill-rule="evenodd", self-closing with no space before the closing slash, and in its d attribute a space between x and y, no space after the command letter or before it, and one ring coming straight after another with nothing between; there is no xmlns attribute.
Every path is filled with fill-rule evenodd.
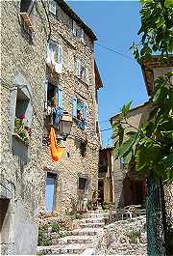
<svg viewBox="0 0 173 256"><path fill-rule="evenodd" d="M146 217L119 220L105 226L100 254L146 256Z"/></svg>

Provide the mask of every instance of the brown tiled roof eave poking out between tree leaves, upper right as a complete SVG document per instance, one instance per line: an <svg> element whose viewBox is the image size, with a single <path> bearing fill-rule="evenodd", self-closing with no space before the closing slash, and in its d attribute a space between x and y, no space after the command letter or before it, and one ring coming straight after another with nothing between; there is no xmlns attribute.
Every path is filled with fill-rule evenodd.
<svg viewBox="0 0 173 256"><path fill-rule="evenodd" d="M169 61L163 63L159 60L160 56L152 56L150 61L144 61L141 65L143 77L145 80L146 89L148 95L151 96L153 93L153 69L162 67L173 67L173 55L169 55Z"/></svg>

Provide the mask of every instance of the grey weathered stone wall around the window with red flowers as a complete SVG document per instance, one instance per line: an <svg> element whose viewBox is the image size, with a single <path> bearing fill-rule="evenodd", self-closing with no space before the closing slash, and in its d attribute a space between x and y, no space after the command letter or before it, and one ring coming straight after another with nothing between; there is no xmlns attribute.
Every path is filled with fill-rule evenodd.
<svg viewBox="0 0 173 256"><path fill-rule="evenodd" d="M12 196L1 230L2 254L35 254L37 192L42 144L46 60L46 20L41 2L31 14L35 31L30 43L20 24L20 1L1 2L1 178L12 183ZM17 88L27 88L31 100L30 158L23 165L12 156L12 132ZM2 180L3 180L2 179Z"/></svg>

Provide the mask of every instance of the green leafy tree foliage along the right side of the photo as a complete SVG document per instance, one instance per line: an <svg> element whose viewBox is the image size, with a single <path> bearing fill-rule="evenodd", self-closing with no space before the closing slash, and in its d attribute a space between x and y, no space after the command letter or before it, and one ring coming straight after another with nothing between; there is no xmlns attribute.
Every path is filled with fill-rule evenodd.
<svg viewBox="0 0 173 256"><path fill-rule="evenodd" d="M173 1L142 0L141 42L133 44L138 63L151 59L159 51L161 61L168 61L173 50ZM173 181L173 71L155 81L154 93L149 100L150 114L146 124L139 128L128 123L131 103L125 104L112 125L114 154L124 162L136 163L140 175ZM126 132L126 128L131 131Z"/></svg>

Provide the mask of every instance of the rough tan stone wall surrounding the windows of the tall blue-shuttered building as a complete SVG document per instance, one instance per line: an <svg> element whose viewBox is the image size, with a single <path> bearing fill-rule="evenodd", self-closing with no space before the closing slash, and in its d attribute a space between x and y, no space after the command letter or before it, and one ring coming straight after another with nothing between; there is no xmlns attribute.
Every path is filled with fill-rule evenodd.
<svg viewBox="0 0 173 256"><path fill-rule="evenodd" d="M54 162L50 156L48 145L44 145L41 153L40 177L40 208L45 210L45 185L47 172L57 174L57 184L54 200L54 211L64 213L71 209L71 202L78 199L78 177L86 177L86 197L91 199L93 187L97 189L99 138L96 134L96 100L94 53L92 41L85 33L85 43L82 43L72 32L72 19L59 7L57 16L49 13L51 23L51 41L62 45L62 73L57 74L47 67L48 81L62 89L63 109L72 115L72 99L77 97L88 106L87 128L82 130L73 120L71 133L62 141L65 152L62 159ZM82 64L89 70L89 84L76 76L76 60L80 58ZM48 130L44 131L48 138ZM86 156L82 156L77 140L86 140Z"/></svg>

